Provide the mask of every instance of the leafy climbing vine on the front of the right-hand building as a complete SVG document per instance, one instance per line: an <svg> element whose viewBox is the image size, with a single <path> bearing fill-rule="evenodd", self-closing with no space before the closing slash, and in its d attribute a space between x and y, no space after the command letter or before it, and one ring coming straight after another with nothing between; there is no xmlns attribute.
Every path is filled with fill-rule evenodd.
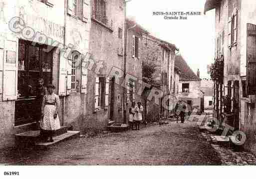
<svg viewBox="0 0 256 179"><path fill-rule="evenodd" d="M211 79L222 82L224 78L224 56L215 59L211 68Z"/></svg>

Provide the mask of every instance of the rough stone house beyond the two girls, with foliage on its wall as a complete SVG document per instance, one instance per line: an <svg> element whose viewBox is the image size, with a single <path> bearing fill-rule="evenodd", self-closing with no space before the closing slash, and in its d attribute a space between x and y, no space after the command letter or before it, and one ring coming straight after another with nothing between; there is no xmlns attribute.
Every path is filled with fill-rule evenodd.
<svg viewBox="0 0 256 179"><path fill-rule="evenodd" d="M143 77L146 82L162 91L159 99L145 100L145 116L159 119L168 118L172 107L177 103L177 93L175 93L175 83L177 84L177 74L175 73L175 51L178 50L174 44L156 38L150 34L144 34L142 38L143 57ZM153 68L152 74L148 74L148 69ZM175 76L176 75L176 76ZM171 95L172 98L167 98ZM166 97L166 98L165 98Z"/></svg>

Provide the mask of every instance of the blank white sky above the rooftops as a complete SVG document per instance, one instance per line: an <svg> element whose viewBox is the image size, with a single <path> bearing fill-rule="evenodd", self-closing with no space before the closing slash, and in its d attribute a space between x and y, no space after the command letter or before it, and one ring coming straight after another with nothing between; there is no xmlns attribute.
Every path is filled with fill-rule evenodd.
<svg viewBox="0 0 256 179"><path fill-rule="evenodd" d="M180 54L201 78L210 78L207 65L214 61L215 10L204 15L206 0L131 0L127 2L127 16L146 28L152 35L175 44ZM200 11L202 15L187 20L164 19L155 11Z"/></svg>

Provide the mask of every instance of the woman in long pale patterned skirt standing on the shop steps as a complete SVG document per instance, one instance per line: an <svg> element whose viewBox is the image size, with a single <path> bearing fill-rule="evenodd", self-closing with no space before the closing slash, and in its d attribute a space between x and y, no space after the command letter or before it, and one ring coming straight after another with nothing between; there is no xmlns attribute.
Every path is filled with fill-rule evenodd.
<svg viewBox="0 0 256 179"><path fill-rule="evenodd" d="M42 121L41 134L45 142L53 142L52 136L55 130L60 129L59 122L59 97L53 93L54 85L47 85L47 95L43 97L42 102Z"/></svg>

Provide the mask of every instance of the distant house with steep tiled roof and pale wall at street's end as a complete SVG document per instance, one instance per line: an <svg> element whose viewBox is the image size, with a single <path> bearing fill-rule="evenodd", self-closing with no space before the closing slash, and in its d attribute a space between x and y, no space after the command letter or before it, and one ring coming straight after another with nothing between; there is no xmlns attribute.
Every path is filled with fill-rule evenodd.
<svg viewBox="0 0 256 179"><path fill-rule="evenodd" d="M185 102L188 106L204 110L204 96L200 90L201 79L192 71L181 55L176 55L175 66L179 68L179 101Z"/></svg>

